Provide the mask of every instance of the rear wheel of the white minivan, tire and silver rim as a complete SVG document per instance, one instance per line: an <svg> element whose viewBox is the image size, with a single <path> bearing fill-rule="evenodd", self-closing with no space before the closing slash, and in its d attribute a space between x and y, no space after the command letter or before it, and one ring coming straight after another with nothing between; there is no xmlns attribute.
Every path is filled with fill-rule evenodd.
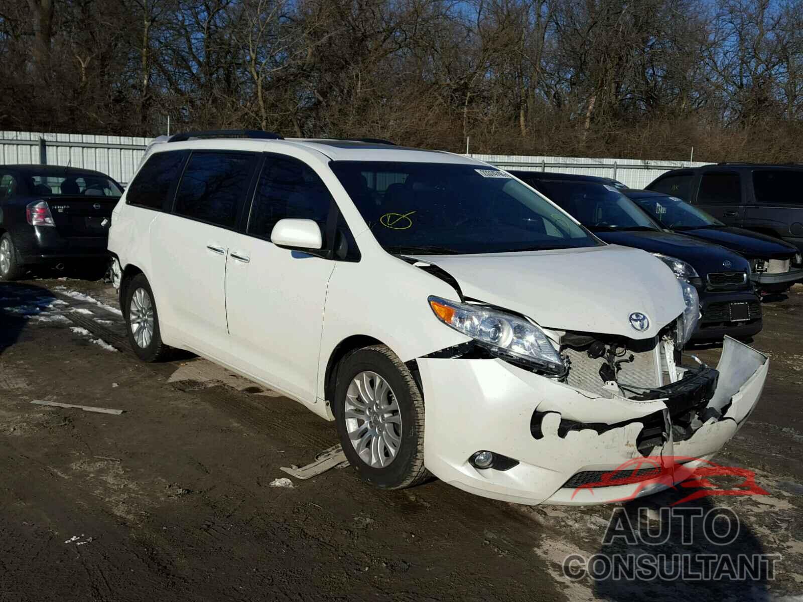
<svg viewBox="0 0 803 602"><path fill-rule="evenodd" d="M137 274L126 284L123 311L128 343L137 357L145 362L165 360L170 348L161 342L159 314L144 274Z"/></svg>

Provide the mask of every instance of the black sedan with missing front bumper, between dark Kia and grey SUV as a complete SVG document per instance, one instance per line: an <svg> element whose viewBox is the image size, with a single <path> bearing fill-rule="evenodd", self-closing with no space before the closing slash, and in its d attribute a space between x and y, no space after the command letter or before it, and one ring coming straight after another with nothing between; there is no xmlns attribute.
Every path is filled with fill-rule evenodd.
<svg viewBox="0 0 803 602"><path fill-rule="evenodd" d="M622 190L652 218L675 232L727 247L748 258L752 280L761 292L777 293L803 280L797 246L744 228L726 226L683 199L652 190Z"/></svg>

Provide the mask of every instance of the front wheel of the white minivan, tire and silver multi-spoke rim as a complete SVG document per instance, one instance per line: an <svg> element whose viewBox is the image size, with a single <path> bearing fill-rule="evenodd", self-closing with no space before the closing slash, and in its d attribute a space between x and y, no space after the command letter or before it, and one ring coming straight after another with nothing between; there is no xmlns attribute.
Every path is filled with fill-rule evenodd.
<svg viewBox="0 0 803 602"><path fill-rule="evenodd" d="M410 370L385 345L345 357L332 411L343 452L365 481L402 489L429 477L424 400Z"/></svg>

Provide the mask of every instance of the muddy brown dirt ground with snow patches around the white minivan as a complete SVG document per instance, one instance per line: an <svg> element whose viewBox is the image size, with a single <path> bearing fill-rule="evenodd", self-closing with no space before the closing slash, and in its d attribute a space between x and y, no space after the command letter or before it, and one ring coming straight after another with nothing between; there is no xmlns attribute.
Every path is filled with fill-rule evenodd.
<svg viewBox="0 0 803 602"><path fill-rule="evenodd" d="M516 506L438 481L386 492L351 468L271 486L335 444L334 425L206 360L140 363L108 284L0 283L0 602L803 600L803 287L764 315L764 396L715 461L768 494L693 504L739 518L712 551L777 555L774 574L572 581L567 555L611 553L617 506ZM669 495L625 507L655 513ZM683 541L661 549L712 545Z"/></svg>

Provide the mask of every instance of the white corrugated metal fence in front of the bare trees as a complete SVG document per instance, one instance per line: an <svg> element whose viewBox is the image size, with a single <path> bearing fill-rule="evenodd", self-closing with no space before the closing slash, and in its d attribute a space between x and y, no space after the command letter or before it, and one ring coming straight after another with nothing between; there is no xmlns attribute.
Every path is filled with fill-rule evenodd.
<svg viewBox="0 0 803 602"><path fill-rule="evenodd" d="M135 136L93 136L43 132L0 132L0 165L47 163L96 169L116 181L131 181L149 144ZM643 188L669 169L705 165L689 161L638 161L584 157L469 155L504 169L528 169L613 177L631 188Z"/></svg>

